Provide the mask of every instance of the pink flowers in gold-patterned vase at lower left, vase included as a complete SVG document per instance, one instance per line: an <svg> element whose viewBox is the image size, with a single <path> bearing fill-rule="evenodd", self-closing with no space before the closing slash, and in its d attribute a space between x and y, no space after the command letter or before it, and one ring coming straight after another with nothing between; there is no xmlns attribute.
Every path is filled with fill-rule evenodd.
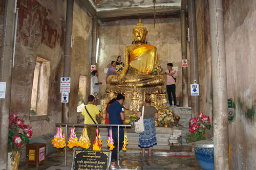
<svg viewBox="0 0 256 170"><path fill-rule="evenodd" d="M24 124L24 120L18 118L16 113L10 114L9 136L8 136L8 166L17 169L20 154L24 147L29 144L32 130L29 125ZM9 168L8 168L9 169Z"/></svg>

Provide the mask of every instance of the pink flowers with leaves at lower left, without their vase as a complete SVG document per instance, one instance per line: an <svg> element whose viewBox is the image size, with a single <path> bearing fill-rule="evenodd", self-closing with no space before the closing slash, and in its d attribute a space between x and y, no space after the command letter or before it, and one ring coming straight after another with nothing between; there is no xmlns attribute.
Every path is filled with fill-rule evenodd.
<svg viewBox="0 0 256 170"><path fill-rule="evenodd" d="M19 130L22 133L19 133ZM8 152L21 151L23 147L29 144L29 137L32 135L29 125L24 124L24 120L18 118L16 113L10 114L9 136L8 136Z"/></svg>

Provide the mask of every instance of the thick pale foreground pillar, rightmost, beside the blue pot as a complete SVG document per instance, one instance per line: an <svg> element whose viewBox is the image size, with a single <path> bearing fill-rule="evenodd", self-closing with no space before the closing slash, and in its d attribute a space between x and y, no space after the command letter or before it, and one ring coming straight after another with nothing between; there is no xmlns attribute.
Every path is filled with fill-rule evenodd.
<svg viewBox="0 0 256 170"><path fill-rule="evenodd" d="M229 169L227 75L222 0L208 1L211 42L214 168Z"/></svg>

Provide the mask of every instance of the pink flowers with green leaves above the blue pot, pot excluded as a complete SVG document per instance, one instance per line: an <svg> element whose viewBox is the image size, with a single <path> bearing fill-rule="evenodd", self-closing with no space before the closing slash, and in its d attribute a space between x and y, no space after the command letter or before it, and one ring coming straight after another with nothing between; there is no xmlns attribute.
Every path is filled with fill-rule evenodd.
<svg viewBox="0 0 256 170"><path fill-rule="evenodd" d="M206 139L208 130L210 130L210 118L201 112L198 117L189 120L189 134L187 134L186 142L191 143Z"/></svg>

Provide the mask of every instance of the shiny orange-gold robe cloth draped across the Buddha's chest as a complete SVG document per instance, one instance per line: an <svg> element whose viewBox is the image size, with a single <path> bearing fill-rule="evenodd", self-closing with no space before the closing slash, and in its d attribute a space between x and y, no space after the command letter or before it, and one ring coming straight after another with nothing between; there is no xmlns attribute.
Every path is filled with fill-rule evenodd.
<svg viewBox="0 0 256 170"><path fill-rule="evenodd" d="M157 48L153 45L143 44L131 52L130 66L140 72L151 73L158 64Z"/></svg>

